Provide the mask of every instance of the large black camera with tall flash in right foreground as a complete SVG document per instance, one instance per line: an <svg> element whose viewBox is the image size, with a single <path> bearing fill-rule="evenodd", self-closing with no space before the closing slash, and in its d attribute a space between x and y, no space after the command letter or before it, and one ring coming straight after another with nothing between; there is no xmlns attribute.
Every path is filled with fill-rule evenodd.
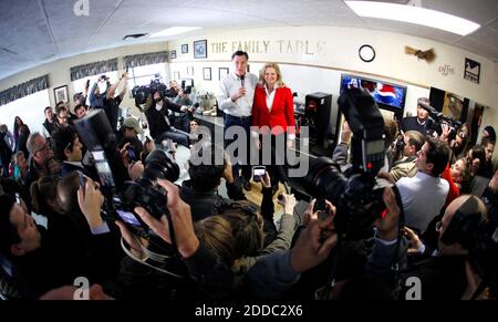
<svg viewBox="0 0 498 322"><path fill-rule="evenodd" d="M334 226L340 238L362 239L385 209L383 187L375 179L384 166L384 120L364 90L345 90L338 104L353 132L352 167L342 174L331 159L318 158L310 165L304 188L335 205Z"/></svg>

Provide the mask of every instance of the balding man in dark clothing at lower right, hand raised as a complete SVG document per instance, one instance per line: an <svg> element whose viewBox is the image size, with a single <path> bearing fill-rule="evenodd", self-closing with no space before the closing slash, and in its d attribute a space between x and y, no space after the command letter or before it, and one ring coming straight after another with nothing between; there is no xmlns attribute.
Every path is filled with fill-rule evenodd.
<svg viewBox="0 0 498 322"><path fill-rule="evenodd" d="M391 198L393 198L392 196ZM378 221L378 232L369 261L370 272L391 270L391 258L395 252L398 236L400 209L391 208L385 218ZM422 283L423 300L460 300L474 293L474 276L481 262L478 257L486 251L490 233L487 229L486 207L475 196L461 196L446 209L436 225L438 249L428 260L409 266L401 272L400 285L411 285L405 280L416 277ZM406 262L406 252L401 252L400 262ZM384 259L384 260L383 260ZM476 260L477 259L477 260ZM486 266L486 263L485 263ZM401 299L407 297L407 289L400 292Z"/></svg>

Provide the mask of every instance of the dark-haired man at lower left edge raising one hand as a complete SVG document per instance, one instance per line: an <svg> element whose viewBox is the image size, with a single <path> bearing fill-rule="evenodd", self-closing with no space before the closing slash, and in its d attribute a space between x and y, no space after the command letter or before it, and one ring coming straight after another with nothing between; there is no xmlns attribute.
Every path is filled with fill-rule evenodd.
<svg viewBox="0 0 498 322"><path fill-rule="evenodd" d="M102 196L90 184L79 195L77 202L93 241L91 253L95 256L107 249L108 245L108 233L102 232L100 217L98 199ZM24 299L35 299L51 289L72 284L76 277L101 280L105 263L98 260L105 259L108 253L87 257L89 249L83 251L85 249L80 248L81 240L71 233L74 231L71 226L56 219L55 216L50 217L49 228L45 229L38 226L10 196L0 196L0 255L12 262L14 281L24 282Z"/></svg>

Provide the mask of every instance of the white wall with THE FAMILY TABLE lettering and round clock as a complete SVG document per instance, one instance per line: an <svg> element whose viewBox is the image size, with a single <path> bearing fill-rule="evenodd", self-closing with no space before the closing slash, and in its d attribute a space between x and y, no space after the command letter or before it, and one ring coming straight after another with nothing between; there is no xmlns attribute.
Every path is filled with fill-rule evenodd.
<svg viewBox="0 0 498 322"><path fill-rule="evenodd" d="M207 59L194 59L193 42L201 39L207 39L208 56ZM184 43L188 44L186 54L181 53ZM69 69L73 65L169 48L169 50L176 50L177 53L177 59L166 66L166 69L169 66L167 72L172 79L175 71L180 72L180 77L188 76L187 66L194 66L196 87L216 92L218 67L224 66L231 70L230 56L239 44L242 50L249 52L251 72L258 73L264 62L279 62L286 84L302 95L323 91L336 96L341 73L352 73L406 85L408 91L405 112L415 113L417 97L427 96L428 89L434 86L490 106L485 112L483 126L492 125L498 128L497 63L465 50L427 39L354 28L284 27L232 30L205 37L183 38L168 43L118 48L60 60L19 73L0 81L0 90L49 73L51 104L53 104L53 87L71 84ZM376 58L372 63L361 61L357 55L357 50L363 44L371 44L376 51ZM405 54L405 45L421 50L434 48L437 58L430 64L419 61L416 56ZM465 58L480 62L480 84L464 80ZM444 76L439 72L439 67L445 65L449 65L454 73ZM120 67L122 67L121 60ZM204 67L211 67L211 81L203 80ZM71 96L73 92L70 86ZM123 103L123 106L133 105L131 100L125 100Z"/></svg>

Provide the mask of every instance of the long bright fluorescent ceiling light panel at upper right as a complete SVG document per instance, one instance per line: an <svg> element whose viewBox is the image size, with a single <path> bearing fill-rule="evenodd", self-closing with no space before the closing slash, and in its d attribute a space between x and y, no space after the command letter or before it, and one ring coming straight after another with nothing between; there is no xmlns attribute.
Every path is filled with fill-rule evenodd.
<svg viewBox="0 0 498 322"><path fill-rule="evenodd" d="M344 3L360 17L409 22L460 35L467 35L480 28L467 19L419 7L375 1L344 1Z"/></svg>

